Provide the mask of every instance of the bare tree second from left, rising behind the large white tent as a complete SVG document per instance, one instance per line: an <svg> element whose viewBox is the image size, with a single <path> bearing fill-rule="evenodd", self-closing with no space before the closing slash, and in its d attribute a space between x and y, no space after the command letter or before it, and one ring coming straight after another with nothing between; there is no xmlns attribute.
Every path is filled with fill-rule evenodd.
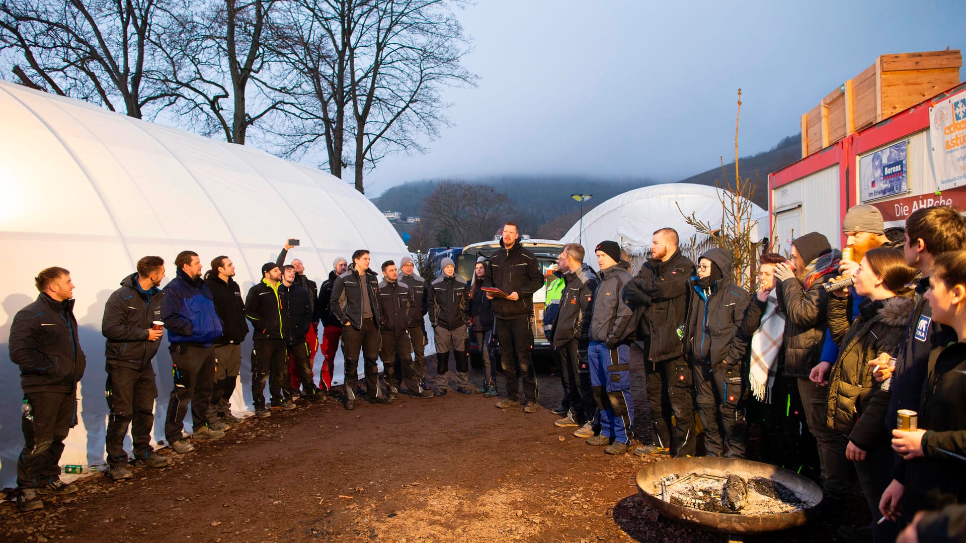
<svg viewBox="0 0 966 543"><path fill-rule="evenodd" d="M177 97L192 128L244 145L248 129L289 103L291 76L272 70L269 19L276 0L181 0L165 12L156 81Z"/></svg>

